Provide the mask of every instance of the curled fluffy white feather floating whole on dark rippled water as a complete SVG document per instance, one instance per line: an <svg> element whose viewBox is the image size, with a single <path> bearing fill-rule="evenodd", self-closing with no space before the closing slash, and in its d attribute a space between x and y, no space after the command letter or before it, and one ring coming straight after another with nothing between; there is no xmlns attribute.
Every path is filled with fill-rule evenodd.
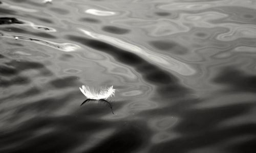
<svg viewBox="0 0 256 153"><path fill-rule="evenodd" d="M79 87L81 92L89 99L107 99L109 97L115 96L116 89L113 89L113 86L109 88L100 88L100 89L94 89L90 88L89 86L82 85L82 88Z"/></svg>

